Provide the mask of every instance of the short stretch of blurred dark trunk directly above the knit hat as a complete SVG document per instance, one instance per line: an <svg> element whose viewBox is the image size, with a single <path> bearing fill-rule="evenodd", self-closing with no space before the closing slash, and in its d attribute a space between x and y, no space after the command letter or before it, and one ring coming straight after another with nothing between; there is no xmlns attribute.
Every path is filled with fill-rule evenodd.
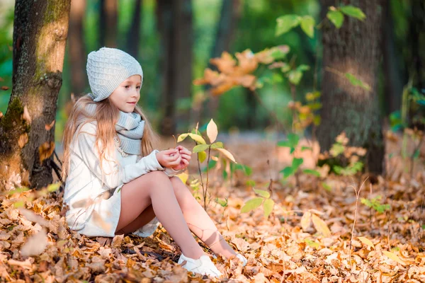
<svg viewBox="0 0 425 283"><path fill-rule="evenodd" d="M101 47L117 47L117 8L117 0L101 0L101 14L99 17Z"/></svg>

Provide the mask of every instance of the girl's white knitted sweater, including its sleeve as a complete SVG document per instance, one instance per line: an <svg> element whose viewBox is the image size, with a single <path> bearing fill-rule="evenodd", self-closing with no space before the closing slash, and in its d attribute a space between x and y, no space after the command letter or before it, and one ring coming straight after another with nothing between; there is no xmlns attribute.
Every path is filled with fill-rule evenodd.
<svg viewBox="0 0 425 283"><path fill-rule="evenodd" d="M140 158L133 154L122 156L117 148L115 162L113 158L103 161L102 175L95 146L96 127L96 122L80 126L69 146L63 200L69 210L65 217L69 229L86 236L113 237L120 218L122 185L151 171L165 171L170 177L179 171L163 168L157 160L157 150Z"/></svg>

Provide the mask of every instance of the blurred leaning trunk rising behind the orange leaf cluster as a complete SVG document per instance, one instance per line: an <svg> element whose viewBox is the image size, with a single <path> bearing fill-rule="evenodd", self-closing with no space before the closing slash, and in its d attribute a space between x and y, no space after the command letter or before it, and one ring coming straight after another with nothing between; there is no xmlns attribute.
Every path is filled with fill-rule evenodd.
<svg viewBox="0 0 425 283"><path fill-rule="evenodd" d="M217 23L217 33L215 35L215 45L212 48L211 58L221 57L223 51L229 52L234 31L237 28L237 22L241 16L242 5L240 0L222 0L222 8L220 13L220 21ZM212 64L208 63L208 68L217 69ZM205 91L208 91L210 86L205 86ZM207 117L215 117L220 96L210 96L208 108L205 110ZM202 110L202 109L200 109ZM200 115L197 115L195 122L200 120Z"/></svg>

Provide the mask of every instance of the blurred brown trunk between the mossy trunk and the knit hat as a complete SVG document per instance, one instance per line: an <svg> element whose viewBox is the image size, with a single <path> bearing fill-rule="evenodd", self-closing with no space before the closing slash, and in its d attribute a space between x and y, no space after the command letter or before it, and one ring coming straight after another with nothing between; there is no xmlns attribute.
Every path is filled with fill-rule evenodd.
<svg viewBox="0 0 425 283"><path fill-rule="evenodd" d="M72 0L69 13L69 66L71 67L71 92L77 97L86 88L86 48L84 46L83 18L86 0Z"/></svg>

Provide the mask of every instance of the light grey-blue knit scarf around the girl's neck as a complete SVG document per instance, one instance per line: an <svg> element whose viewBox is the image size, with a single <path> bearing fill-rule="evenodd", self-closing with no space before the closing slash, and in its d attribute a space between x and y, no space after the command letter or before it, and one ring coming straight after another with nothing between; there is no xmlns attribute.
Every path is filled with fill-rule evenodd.
<svg viewBox="0 0 425 283"><path fill-rule="evenodd" d="M86 113L91 117L96 116L96 104L89 104L86 107ZM136 112L120 111L120 117L115 124L118 138L120 139L120 148L126 154L142 154L142 137L145 129L145 120L142 120Z"/></svg>

